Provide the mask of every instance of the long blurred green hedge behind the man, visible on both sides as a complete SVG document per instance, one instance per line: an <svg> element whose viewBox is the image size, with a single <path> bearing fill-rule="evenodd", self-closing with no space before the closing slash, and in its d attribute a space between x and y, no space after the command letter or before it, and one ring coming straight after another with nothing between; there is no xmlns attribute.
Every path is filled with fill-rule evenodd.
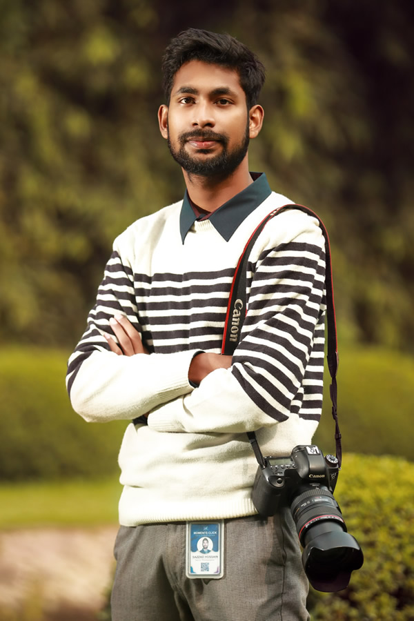
<svg viewBox="0 0 414 621"><path fill-rule="evenodd" d="M68 354L1 351L0 480L117 473L126 422L86 423L72 411L64 385ZM338 384L344 451L413 460L414 359L379 349L346 350ZM327 394L315 442L325 453L335 450Z"/></svg>

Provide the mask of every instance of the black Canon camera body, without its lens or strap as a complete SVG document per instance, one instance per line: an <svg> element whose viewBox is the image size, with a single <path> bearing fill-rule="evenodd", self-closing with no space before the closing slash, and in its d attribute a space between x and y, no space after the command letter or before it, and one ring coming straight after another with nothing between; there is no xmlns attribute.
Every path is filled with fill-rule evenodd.
<svg viewBox="0 0 414 621"><path fill-rule="evenodd" d="M275 515L280 502L290 504L305 489L326 487L333 493L339 473L335 455L326 455L315 444L295 446L288 457L264 457L253 484L253 504L260 515Z"/></svg>

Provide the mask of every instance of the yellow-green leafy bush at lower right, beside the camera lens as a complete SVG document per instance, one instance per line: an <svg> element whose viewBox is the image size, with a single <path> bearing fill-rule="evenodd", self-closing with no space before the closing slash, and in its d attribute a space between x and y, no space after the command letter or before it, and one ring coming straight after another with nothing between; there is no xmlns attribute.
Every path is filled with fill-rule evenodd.
<svg viewBox="0 0 414 621"><path fill-rule="evenodd" d="M312 621L414 618L414 464L395 457L344 455L335 498L362 548L364 565L348 589L311 589Z"/></svg>

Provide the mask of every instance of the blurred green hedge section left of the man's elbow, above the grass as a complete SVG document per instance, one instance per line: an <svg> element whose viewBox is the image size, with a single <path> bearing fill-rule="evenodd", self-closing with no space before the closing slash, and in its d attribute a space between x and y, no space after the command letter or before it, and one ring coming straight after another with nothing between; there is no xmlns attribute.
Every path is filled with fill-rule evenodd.
<svg viewBox="0 0 414 621"><path fill-rule="evenodd" d="M126 422L86 424L72 411L66 353L10 348L0 355L0 480L117 473Z"/></svg>

